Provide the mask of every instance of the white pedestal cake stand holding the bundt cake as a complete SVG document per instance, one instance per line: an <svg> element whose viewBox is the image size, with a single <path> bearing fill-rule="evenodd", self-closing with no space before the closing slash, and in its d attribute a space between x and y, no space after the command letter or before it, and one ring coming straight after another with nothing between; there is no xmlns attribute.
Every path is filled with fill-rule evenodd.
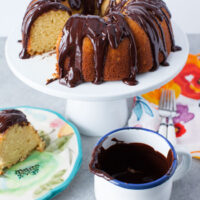
<svg viewBox="0 0 200 200"><path fill-rule="evenodd" d="M56 81L46 86L46 80L55 72L56 56L20 59L21 44L17 42L21 38L20 26L8 37L5 52L10 69L21 81L36 90L66 99L66 117L79 127L81 133L102 136L126 125L128 98L161 87L183 68L189 53L188 40L177 25L173 24L173 29L176 44L182 47L182 51L169 55L169 67L159 67L155 72L137 76L137 86L128 86L121 81L101 85L84 83L75 88Z"/></svg>

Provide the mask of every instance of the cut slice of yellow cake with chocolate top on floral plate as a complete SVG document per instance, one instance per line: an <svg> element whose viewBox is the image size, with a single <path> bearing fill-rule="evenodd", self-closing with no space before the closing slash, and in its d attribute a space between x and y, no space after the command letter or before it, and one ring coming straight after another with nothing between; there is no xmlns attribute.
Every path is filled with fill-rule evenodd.
<svg viewBox="0 0 200 200"><path fill-rule="evenodd" d="M19 110L0 111L0 174L23 161L34 150L44 150L44 142Z"/></svg>

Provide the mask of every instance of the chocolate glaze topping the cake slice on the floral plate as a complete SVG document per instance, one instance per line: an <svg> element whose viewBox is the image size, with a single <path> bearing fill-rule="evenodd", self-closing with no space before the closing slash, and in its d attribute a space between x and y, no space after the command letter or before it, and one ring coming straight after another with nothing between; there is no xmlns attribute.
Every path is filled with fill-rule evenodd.
<svg viewBox="0 0 200 200"><path fill-rule="evenodd" d="M9 127L19 124L28 125L26 116L19 110L3 110L0 112L0 133L5 132Z"/></svg>

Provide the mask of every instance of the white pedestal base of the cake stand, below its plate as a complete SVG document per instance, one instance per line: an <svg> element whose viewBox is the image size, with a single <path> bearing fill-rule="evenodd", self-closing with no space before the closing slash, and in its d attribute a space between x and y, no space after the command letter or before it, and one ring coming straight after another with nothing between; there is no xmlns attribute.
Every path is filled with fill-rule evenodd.
<svg viewBox="0 0 200 200"><path fill-rule="evenodd" d="M129 117L131 99L116 101L67 100L66 117L86 136L103 136L124 127Z"/></svg>

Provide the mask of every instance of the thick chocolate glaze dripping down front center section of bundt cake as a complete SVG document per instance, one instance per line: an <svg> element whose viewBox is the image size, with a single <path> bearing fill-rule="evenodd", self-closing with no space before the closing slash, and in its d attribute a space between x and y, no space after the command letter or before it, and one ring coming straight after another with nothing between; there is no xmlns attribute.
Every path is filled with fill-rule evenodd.
<svg viewBox="0 0 200 200"><path fill-rule="evenodd" d="M104 65L108 45L118 48L121 41L128 37L130 40L130 76L125 83L136 84L137 51L133 34L121 13L113 12L106 16L107 20L99 16L74 15L63 29L63 37L59 47L60 83L75 87L83 82L82 77L82 44L88 37L94 48L95 79L93 83L103 82ZM65 59L69 57L69 66L65 66ZM64 77L64 78L63 78Z"/></svg>

